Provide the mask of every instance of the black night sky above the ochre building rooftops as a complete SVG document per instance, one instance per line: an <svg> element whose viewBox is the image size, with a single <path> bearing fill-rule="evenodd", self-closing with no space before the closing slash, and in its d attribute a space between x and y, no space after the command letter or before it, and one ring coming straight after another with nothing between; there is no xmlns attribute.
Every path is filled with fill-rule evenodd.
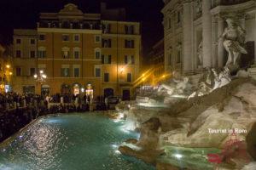
<svg viewBox="0 0 256 170"><path fill-rule="evenodd" d="M40 12L58 12L67 3L74 3L85 13L97 13L100 3L108 8L126 8L127 18L142 22L143 54L163 37L162 0L0 0L0 35L11 40L14 28L35 28Z"/></svg>

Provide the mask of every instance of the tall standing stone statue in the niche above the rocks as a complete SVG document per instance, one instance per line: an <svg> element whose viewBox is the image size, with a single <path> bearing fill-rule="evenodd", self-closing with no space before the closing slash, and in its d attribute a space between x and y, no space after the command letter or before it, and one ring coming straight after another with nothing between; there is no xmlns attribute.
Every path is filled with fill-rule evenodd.
<svg viewBox="0 0 256 170"><path fill-rule="evenodd" d="M237 25L232 19L226 20L228 26L224 29L222 38L224 38L224 48L229 53L226 65L236 65L237 59L241 54L247 54L247 50L243 48L245 42L245 30Z"/></svg>

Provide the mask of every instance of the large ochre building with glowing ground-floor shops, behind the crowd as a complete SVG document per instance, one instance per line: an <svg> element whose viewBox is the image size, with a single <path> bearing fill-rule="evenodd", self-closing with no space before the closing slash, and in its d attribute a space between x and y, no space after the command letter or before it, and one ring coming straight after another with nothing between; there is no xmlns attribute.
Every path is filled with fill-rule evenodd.
<svg viewBox="0 0 256 170"><path fill-rule="evenodd" d="M69 3L58 13L41 13L36 94L118 95L130 99L139 74L140 24L124 21L124 9L84 14Z"/></svg>

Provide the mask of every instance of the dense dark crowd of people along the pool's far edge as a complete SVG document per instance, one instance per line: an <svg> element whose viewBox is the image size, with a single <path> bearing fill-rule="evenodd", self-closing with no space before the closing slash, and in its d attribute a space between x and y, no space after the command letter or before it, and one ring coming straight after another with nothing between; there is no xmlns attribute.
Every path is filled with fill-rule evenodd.
<svg viewBox="0 0 256 170"><path fill-rule="evenodd" d="M0 142L38 116L108 109L108 99L100 96L90 99L85 95L0 94Z"/></svg>

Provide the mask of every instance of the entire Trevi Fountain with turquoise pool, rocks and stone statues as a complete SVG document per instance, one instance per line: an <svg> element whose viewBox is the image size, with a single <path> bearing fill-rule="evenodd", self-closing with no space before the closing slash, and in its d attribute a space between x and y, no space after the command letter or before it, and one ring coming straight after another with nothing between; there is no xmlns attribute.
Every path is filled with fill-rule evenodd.
<svg viewBox="0 0 256 170"><path fill-rule="evenodd" d="M197 84L173 72L116 105L113 119L41 117L0 145L0 168L255 170L256 81L239 67L246 32L226 22L224 68L206 68Z"/></svg>

